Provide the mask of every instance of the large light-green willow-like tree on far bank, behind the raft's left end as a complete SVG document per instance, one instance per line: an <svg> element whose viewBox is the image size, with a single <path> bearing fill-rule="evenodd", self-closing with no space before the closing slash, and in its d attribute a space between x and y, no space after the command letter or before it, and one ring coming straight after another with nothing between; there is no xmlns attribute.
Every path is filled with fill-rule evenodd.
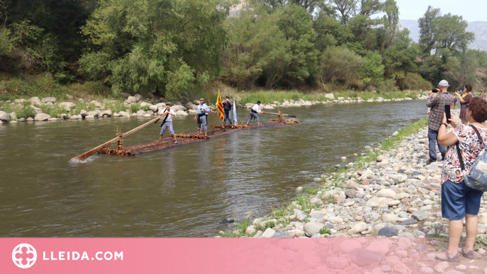
<svg viewBox="0 0 487 274"><path fill-rule="evenodd" d="M79 63L84 72L99 70L99 75L108 75L104 81L114 93L159 92L177 98L218 75L231 4L218 0L102 1L82 28L91 46Z"/></svg>

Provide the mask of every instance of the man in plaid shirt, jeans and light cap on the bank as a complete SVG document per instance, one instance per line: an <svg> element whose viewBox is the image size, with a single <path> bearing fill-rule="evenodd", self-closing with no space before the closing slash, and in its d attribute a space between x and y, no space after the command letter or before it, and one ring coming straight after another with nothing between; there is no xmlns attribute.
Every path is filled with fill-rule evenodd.
<svg viewBox="0 0 487 274"><path fill-rule="evenodd" d="M444 159L444 154L447 153L447 148L442 146L437 142L438 130L440 130L440 125L442 124L444 105L453 105L454 96L448 94L448 81L442 80L438 84L440 89L433 89L430 91L430 97L426 101L426 105L430 109L430 120L428 120L428 139L430 141L430 161L428 164L435 162L436 159L436 146L438 144L438 149L442 154L442 160ZM440 93L438 93L440 92ZM433 93L438 93L437 96L433 96Z"/></svg>

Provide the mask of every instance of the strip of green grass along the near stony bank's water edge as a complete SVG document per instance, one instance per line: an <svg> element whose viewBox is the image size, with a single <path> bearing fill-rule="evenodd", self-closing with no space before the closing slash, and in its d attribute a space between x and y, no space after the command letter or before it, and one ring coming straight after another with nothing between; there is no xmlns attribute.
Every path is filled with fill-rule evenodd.
<svg viewBox="0 0 487 274"><path fill-rule="evenodd" d="M379 149L372 149L366 155L362 155L357 157L357 161L354 164L354 167L357 169L362 169L361 167L364 164L369 164L371 161L375 161L376 157L387 152L391 149L398 147L398 144L405 138L410 135L415 134L422 128L427 126L428 117L422 118L413 124L410 124L406 127L403 127L401 130L398 131L398 135L395 137L388 137L379 145ZM257 225L255 227L256 232L250 235L245 234L245 230L249 227L252 222L249 219L244 219L244 221L237 222L237 227L239 229L235 229L233 232L225 232L224 234L220 234L223 237L242 237L242 236L254 236L258 231L264 232L265 229L268 227L273 228L275 225L279 224L281 228L286 227L291 220L287 218L290 215L293 215L293 209L298 208L304 214L308 214L311 210L319 210L320 206L318 204L313 204L310 202L310 198L314 197L319 193L319 191L328 191L335 187L342 187L343 183L347 180L347 172L349 171L350 167L347 165L340 165L330 167L328 171L323 174L322 178L330 178L331 183L321 183L320 185L305 185L303 186L303 191L298 193L298 196L293 199L293 201L288 202L284 205L281 205L279 208L273 208L269 214L269 217L264 218L264 225ZM330 181L330 180L328 180ZM326 204L335 203L336 198L334 195L325 195L322 197L323 202ZM272 222L266 222L269 219L276 219L278 222L277 224ZM242 224L244 222L244 224ZM242 227L240 227L242 225ZM272 227L271 227L272 225ZM243 229L245 227L245 229ZM328 232L328 231L327 231ZM325 234L325 233L324 233Z"/></svg>

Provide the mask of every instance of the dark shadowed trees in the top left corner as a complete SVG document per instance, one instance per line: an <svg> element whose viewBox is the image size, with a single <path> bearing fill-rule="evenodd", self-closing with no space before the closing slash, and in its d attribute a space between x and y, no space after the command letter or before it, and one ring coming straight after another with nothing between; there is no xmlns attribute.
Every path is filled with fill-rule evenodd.
<svg viewBox="0 0 487 274"><path fill-rule="evenodd" d="M0 29L8 30L13 55L1 57L6 72L52 72L71 81L84 47L79 28L92 11L94 0L0 1ZM21 31L22 34L19 34ZM26 32L30 32L26 39ZM6 39L6 33L1 35ZM23 36L23 38L20 38ZM4 40L5 41L5 40ZM19 44L20 43L20 44ZM21 55L25 55L21 57ZM26 59L29 61L26 64Z"/></svg>

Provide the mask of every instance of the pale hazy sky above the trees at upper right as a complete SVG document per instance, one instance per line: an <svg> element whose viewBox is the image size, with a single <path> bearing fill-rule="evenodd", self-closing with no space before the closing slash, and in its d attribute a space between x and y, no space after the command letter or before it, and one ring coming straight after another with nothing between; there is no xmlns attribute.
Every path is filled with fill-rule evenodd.
<svg viewBox="0 0 487 274"><path fill-rule="evenodd" d="M417 20L432 6L440 8L442 14L463 16L469 22L487 21L487 0L396 0L396 3L401 19Z"/></svg>

